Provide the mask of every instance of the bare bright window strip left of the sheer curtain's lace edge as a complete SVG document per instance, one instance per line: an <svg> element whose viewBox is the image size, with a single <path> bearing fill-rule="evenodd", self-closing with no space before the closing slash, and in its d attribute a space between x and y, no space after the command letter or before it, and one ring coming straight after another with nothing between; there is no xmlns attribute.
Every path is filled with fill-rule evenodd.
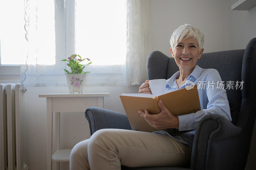
<svg viewBox="0 0 256 170"><path fill-rule="evenodd" d="M21 63L20 55L26 41L24 24L24 1L0 1L1 64Z"/></svg>

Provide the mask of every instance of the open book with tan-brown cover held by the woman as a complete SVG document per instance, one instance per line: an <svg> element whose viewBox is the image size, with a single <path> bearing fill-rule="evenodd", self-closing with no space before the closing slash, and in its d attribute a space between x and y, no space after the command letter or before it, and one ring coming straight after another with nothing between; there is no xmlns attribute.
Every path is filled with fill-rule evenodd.
<svg viewBox="0 0 256 170"><path fill-rule="evenodd" d="M148 110L150 114L161 112L158 106L158 100L162 100L164 106L172 115L185 115L195 113L201 110L197 86L187 90L182 88L173 92L165 93L159 96L144 93L132 93L119 95L124 106L132 130L154 132L157 129L151 127L143 117L138 113L139 110ZM166 129L170 135L178 135L188 131L179 131L177 129Z"/></svg>

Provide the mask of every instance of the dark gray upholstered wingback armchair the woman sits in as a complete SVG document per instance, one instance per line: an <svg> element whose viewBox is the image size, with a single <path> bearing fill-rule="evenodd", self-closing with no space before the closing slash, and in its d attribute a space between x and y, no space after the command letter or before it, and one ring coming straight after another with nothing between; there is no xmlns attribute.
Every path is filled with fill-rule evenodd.
<svg viewBox="0 0 256 170"><path fill-rule="evenodd" d="M179 167L122 169L244 169L256 116L256 38L246 49L205 53L197 61L201 68L219 71L222 81L244 81L243 88L227 89L232 122L220 115L206 115L198 124L193 141L191 164ZM170 78L179 70L173 58L159 51L148 55L148 79ZM161 68L161 69L160 69ZM126 115L89 107L85 111L91 135L99 129L131 129Z"/></svg>

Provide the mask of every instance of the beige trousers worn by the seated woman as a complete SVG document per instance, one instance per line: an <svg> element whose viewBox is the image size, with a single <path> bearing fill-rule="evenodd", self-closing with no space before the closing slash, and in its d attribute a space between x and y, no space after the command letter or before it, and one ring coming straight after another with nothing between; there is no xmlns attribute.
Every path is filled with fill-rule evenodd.
<svg viewBox="0 0 256 170"><path fill-rule="evenodd" d="M172 137L134 130L100 129L74 146L70 170L189 166L191 147Z"/></svg>

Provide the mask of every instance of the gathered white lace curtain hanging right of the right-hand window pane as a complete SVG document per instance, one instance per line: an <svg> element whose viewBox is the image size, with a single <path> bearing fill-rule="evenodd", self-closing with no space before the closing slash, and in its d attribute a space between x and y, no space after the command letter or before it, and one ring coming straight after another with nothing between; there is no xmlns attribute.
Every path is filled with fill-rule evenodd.
<svg viewBox="0 0 256 170"><path fill-rule="evenodd" d="M141 85L147 79L147 0L127 0L126 86Z"/></svg>

